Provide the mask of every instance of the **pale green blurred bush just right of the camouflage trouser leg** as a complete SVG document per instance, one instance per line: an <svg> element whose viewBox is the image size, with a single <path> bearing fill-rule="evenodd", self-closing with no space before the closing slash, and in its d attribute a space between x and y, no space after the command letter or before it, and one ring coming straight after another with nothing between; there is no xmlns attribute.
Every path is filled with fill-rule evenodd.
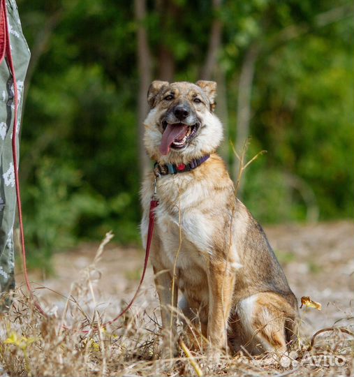
<svg viewBox="0 0 354 377"><path fill-rule="evenodd" d="M57 165L43 159L36 168L36 186L24 195L24 223L27 253L31 267L50 272L53 250L72 246L72 228L78 217L71 188L78 186L80 175L70 165Z"/></svg>

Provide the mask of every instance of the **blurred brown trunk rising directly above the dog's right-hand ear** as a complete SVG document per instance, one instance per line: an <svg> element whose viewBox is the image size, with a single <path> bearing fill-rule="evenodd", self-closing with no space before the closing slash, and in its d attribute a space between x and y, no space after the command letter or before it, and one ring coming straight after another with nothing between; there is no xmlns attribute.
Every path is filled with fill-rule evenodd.
<svg viewBox="0 0 354 377"><path fill-rule="evenodd" d="M221 20L219 18L219 10L221 8L221 0L213 0L213 13L214 13L214 20L212 23L212 29L210 31L209 36L209 47L207 51L207 58L205 59L205 64L202 67L202 71L200 73L200 79L202 80L211 80L212 75L215 70L216 61L218 59L218 54L221 45L221 34L223 25L221 24Z"/></svg>

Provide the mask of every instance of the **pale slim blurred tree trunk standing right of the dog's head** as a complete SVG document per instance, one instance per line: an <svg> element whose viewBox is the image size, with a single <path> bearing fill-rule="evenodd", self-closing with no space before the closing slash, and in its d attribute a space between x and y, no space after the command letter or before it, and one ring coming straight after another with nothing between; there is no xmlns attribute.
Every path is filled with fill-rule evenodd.
<svg viewBox="0 0 354 377"><path fill-rule="evenodd" d="M251 91L253 84L254 68L258 57L259 47L253 44L246 51L244 61L242 62L241 73L239 75L239 87L237 94L237 131L236 131L236 151L240 155L244 143L249 138L249 121L251 119ZM235 156L233 166L233 179L236 181L238 175L239 163ZM242 186L244 177L239 182L238 193L242 195Z"/></svg>

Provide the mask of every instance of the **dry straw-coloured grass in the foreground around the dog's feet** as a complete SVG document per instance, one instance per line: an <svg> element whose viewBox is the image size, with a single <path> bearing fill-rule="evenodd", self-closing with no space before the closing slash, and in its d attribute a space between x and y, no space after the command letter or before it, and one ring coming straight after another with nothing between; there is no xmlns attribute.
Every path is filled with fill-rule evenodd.
<svg viewBox="0 0 354 377"><path fill-rule="evenodd" d="M314 347L300 337L290 356L276 358L249 355L213 356L206 348L192 351L180 341L179 357L159 357L161 327L158 315L127 313L103 326L93 285L100 274L103 241L94 262L73 283L63 313L43 317L34 299L17 290L10 312L3 316L0 363L10 376L353 376L353 326L348 333L337 328L318 334ZM92 310L94 307L94 310ZM91 309L90 309L91 308ZM157 309L156 309L156 313ZM353 321L353 318L346 318ZM197 343L200 343L196 335ZM204 342L205 343L205 342ZM307 362L304 362L307 355ZM339 360L341 365L335 365ZM342 361L345 361L344 363ZM317 365L314 365L314 364ZM327 364L334 364L332 366Z"/></svg>

